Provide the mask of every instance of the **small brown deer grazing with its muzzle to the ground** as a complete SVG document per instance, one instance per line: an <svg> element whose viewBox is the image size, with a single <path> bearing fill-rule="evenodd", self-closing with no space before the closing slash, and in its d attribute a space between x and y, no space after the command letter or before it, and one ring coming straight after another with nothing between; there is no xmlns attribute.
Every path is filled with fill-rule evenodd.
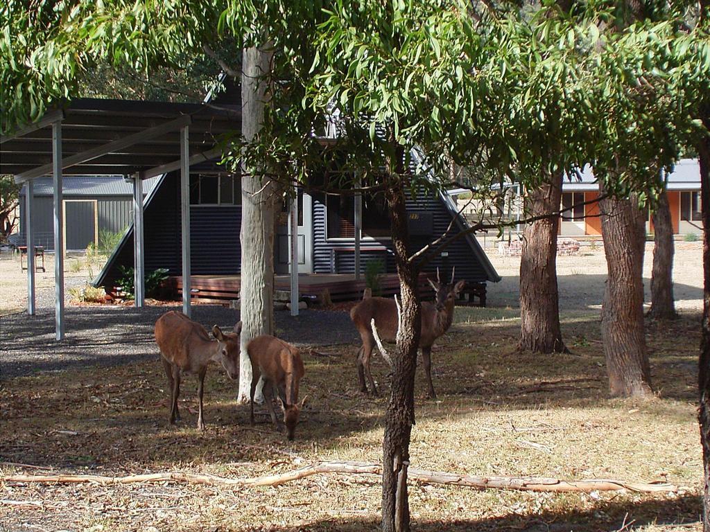
<svg viewBox="0 0 710 532"><path fill-rule="evenodd" d="M286 435L293 440L293 434L307 396L298 402L298 382L303 377L303 360L298 350L290 343L274 336L257 336L246 345L251 360L251 425L254 424L254 392L259 378L263 377L264 401L271 414L271 421L278 429L276 413L273 409L273 389L278 391L278 400L283 409L283 423Z"/></svg>

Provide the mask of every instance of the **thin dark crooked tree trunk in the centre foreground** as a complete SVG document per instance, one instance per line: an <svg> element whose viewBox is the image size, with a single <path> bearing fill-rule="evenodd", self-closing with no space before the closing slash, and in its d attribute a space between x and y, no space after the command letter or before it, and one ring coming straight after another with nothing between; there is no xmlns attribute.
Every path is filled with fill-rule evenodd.
<svg viewBox="0 0 710 532"><path fill-rule="evenodd" d="M392 244L400 280L401 313L393 357L390 401L385 414L382 442L382 530L410 530L407 468L409 443L414 424L414 375L421 329L421 302L417 268L408 261L409 230L405 192L400 181L403 150L395 150L395 164L389 172L386 199L392 217Z"/></svg>

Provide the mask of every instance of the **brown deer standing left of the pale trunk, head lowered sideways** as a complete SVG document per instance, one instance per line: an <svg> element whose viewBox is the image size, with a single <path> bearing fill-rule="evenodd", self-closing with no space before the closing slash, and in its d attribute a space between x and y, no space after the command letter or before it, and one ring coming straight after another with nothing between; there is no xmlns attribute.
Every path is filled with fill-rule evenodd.
<svg viewBox="0 0 710 532"><path fill-rule="evenodd" d="M178 311L166 312L155 322L155 343L160 348L160 359L170 386L170 424L180 421L178 396L182 374L192 373L197 375L197 397L200 399L197 428L204 431L202 392L207 365L209 362L218 362L230 379L239 377L241 321L234 326L234 331L222 333L215 325L212 334L216 340L212 340L200 323Z"/></svg>

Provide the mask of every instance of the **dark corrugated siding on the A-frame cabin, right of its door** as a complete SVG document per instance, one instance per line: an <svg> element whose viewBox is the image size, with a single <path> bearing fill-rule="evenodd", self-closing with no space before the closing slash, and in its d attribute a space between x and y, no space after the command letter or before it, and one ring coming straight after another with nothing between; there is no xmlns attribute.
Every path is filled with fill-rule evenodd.
<svg viewBox="0 0 710 532"><path fill-rule="evenodd" d="M438 235L444 233L451 223L451 214L446 209L442 201L437 196L419 197L415 201L408 196L407 210L409 212L429 212L433 218L432 237L412 237L413 250L419 250L434 240ZM350 241L327 240L326 238L326 209L322 196L315 196L313 199L313 269L317 273L353 273L355 271L354 253L351 251L354 243ZM458 230L454 231L457 233ZM388 273L396 272L392 245L389 240L365 241L361 243L362 248L381 247L381 252L363 252L361 254L361 270L364 272L365 265L372 258L385 258ZM337 252L337 249L348 248L348 251ZM484 282L487 280L486 272L481 263L474 255L471 246L465 239L449 245L444 251L447 256L436 257L426 265L423 271L436 272L437 267L441 270L442 277L450 279L452 267L456 267L456 278L466 279L469 282Z"/></svg>

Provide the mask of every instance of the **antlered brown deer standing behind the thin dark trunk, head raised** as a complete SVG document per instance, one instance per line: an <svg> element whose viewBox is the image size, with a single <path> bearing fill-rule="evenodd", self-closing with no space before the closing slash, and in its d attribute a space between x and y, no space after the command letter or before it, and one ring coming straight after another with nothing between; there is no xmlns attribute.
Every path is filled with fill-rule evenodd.
<svg viewBox="0 0 710 532"><path fill-rule="evenodd" d="M452 270L451 282L449 284L442 283L438 269L437 280L427 279L427 281L434 289L435 302L422 302L422 331L419 346L422 348L424 370L429 381L429 395L436 399L437 394L434 392L434 385L432 384L432 345L439 336L443 336L449 330L454 319L454 302L466 282L459 281L454 283L454 271ZM367 376L372 393L375 395L378 393L370 371L372 350L376 346L372 323L375 324L378 336L382 340L395 341L399 328L397 306L395 299L368 297L356 304L350 311L350 318L355 323L362 338L362 347L358 351L356 362L362 392L368 392L365 382L365 377ZM383 356L387 358L386 353L383 353Z"/></svg>

